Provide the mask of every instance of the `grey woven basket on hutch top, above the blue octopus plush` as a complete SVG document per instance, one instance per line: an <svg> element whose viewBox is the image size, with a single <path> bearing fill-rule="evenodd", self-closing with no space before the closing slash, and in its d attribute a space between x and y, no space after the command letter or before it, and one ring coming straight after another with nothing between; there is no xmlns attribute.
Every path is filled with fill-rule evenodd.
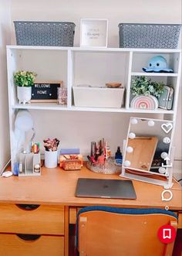
<svg viewBox="0 0 182 256"><path fill-rule="evenodd" d="M120 48L175 49L180 24L120 23Z"/></svg>

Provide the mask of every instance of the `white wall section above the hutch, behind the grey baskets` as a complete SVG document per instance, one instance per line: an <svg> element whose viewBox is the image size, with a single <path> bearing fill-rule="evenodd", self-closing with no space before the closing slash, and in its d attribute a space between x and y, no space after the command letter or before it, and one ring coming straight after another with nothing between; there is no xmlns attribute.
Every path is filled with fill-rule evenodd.
<svg viewBox="0 0 182 256"><path fill-rule="evenodd" d="M12 20L70 21L76 23L75 44L79 45L79 19L109 19L109 46L118 46L120 22L181 22L181 0L13 0Z"/></svg>

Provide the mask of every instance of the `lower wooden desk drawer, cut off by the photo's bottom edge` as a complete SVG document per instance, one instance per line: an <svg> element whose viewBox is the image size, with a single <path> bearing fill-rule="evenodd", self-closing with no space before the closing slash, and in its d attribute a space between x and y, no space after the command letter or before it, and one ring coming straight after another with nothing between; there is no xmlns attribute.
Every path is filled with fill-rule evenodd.
<svg viewBox="0 0 182 256"><path fill-rule="evenodd" d="M64 237L42 235L25 241L16 234L0 234L1 256L63 256Z"/></svg>

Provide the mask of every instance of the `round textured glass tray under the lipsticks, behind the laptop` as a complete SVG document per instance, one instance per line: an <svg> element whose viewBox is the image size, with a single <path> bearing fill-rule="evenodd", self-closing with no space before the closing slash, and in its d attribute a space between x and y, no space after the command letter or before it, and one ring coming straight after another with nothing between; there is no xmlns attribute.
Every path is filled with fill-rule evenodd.
<svg viewBox="0 0 182 256"><path fill-rule="evenodd" d="M104 164L86 162L86 167L93 172L113 174L121 173L122 165L116 165L114 159L107 159Z"/></svg>

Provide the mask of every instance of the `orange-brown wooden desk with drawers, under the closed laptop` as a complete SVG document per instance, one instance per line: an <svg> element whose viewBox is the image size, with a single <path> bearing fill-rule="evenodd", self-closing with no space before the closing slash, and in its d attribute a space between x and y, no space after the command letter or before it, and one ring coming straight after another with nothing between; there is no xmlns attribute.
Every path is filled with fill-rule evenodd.
<svg viewBox="0 0 182 256"><path fill-rule="evenodd" d="M0 255L6 250L6 256L24 256L25 251L33 251L36 256L68 255L69 208L89 205L107 205L115 207L162 208L166 206L182 216L182 191L171 190L173 200L161 200L163 187L133 181L136 200L113 200L75 197L78 178L121 179L118 175L103 175L90 172L85 167L81 171L63 171L62 169L42 169L42 176L0 178ZM180 185L174 183L174 188ZM15 204L39 204L36 210L22 210ZM179 227L182 224L179 223ZM17 238L14 234L42 234L42 237L29 245L20 244L25 251L17 253ZM5 242L6 241L6 242ZM20 239L19 239L20 241ZM5 243L7 247L5 247ZM12 243L12 247L8 244ZM37 244L36 244L37 243ZM3 245L2 245L3 244ZM46 250L37 251L39 247ZM12 249L15 249L12 254ZM2 251L1 251L2 250ZM8 251L7 251L8 250ZM26 254L25 254L26 255ZM28 255L28 254L27 254Z"/></svg>

